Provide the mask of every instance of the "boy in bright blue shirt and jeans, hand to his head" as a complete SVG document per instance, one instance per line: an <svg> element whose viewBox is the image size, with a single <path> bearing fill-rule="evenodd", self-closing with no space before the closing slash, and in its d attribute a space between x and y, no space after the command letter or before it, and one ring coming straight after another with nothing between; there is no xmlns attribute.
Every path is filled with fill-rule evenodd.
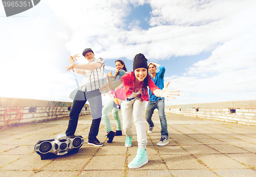
<svg viewBox="0 0 256 177"><path fill-rule="evenodd" d="M159 68L159 72L157 73L157 67ZM150 62L148 64L148 71L151 74L151 79L155 82L155 85L159 87L159 89L163 89L164 87L164 82L163 82L163 77L165 73L165 68L157 63ZM147 102L147 107L146 107L146 121L148 123L148 126L150 128L148 129L148 133L153 132L154 128L154 123L152 121L152 115L154 114L154 110L158 109L158 114L160 118L160 123L161 123L161 139L157 143L158 146L165 146L166 144L169 143L169 136L168 136L168 130L167 130L167 121L165 118L164 114L164 98L161 97L156 97L155 95L152 94L150 90L150 101Z"/></svg>

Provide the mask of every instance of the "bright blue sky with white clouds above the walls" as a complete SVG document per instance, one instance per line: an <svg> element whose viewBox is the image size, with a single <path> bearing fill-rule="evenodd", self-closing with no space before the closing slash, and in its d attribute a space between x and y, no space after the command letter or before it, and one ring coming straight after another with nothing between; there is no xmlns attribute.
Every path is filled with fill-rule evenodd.
<svg viewBox="0 0 256 177"><path fill-rule="evenodd" d="M0 97L72 102L83 76L68 57L91 48L105 74L138 53L163 65L180 91L165 105L255 100L255 16L254 0L44 0L9 17L0 4Z"/></svg>

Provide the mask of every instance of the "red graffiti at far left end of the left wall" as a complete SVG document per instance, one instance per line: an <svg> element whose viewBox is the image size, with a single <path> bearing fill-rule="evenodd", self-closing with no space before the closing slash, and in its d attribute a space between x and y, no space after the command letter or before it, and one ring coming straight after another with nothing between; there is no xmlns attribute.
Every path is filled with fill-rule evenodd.
<svg viewBox="0 0 256 177"><path fill-rule="evenodd" d="M20 111L20 107L9 107L4 112L4 123L9 124L10 121L20 121L23 118L23 112Z"/></svg>

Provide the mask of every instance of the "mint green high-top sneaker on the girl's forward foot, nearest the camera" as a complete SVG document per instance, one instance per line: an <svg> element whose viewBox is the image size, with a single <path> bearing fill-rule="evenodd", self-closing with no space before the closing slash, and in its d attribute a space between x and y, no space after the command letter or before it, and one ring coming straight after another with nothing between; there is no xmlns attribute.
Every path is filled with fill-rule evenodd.
<svg viewBox="0 0 256 177"><path fill-rule="evenodd" d="M137 150L137 155L133 159L132 162L128 164L129 168L139 168L142 165L145 165L148 162L147 153L145 149L141 149L140 147Z"/></svg>

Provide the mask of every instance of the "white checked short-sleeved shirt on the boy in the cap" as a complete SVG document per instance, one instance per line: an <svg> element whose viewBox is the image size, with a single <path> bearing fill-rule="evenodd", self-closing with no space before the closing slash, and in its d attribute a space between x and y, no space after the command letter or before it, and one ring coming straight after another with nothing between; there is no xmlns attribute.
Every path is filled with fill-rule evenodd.
<svg viewBox="0 0 256 177"><path fill-rule="evenodd" d="M99 89L99 87L103 85L105 61L103 58L95 58L93 61L89 62L89 64L94 62L101 63L101 67L94 70L84 70L83 75L85 77L82 80L82 85L79 87L79 91L90 92Z"/></svg>

